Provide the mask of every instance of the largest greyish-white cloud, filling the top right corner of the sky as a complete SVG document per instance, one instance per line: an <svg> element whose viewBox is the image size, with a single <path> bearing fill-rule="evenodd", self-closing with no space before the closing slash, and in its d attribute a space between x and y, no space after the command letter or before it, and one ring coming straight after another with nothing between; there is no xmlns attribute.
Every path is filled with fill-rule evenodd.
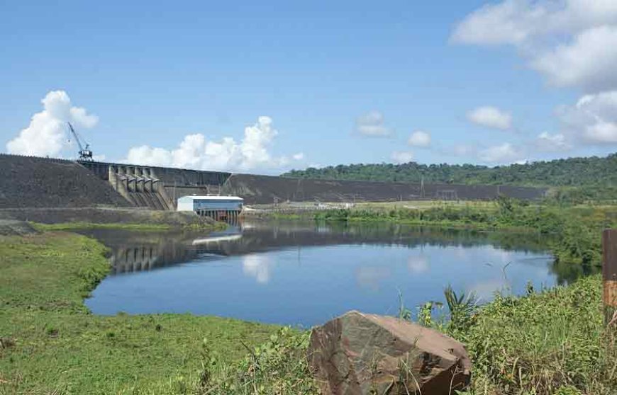
<svg viewBox="0 0 617 395"><path fill-rule="evenodd" d="M451 40L513 45L556 86L617 88L617 1L504 0L461 21Z"/></svg>

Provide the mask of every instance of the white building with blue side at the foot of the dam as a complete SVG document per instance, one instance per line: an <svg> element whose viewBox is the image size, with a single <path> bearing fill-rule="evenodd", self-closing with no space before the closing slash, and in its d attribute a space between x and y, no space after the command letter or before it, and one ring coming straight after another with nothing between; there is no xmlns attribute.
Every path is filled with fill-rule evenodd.
<svg viewBox="0 0 617 395"><path fill-rule="evenodd" d="M217 221L238 219L244 199L238 196L182 196L178 199L178 211L192 211L212 217Z"/></svg>

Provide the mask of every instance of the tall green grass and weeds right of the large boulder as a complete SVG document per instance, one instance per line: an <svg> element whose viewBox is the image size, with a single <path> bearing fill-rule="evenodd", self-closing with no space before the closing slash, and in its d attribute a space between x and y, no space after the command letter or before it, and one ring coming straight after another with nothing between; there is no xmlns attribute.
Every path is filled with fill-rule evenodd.
<svg viewBox="0 0 617 395"><path fill-rule="evenodd" d="M454 336L474 363L471 394L617 394L617 331L601 278L483 307Z"/></svg>

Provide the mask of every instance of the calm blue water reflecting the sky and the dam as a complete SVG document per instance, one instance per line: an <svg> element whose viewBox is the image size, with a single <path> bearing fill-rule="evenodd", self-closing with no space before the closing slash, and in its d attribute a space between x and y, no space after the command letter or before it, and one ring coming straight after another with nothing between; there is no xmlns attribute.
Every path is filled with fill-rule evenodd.
<svg viewBox="0 0 617 395"><path fill-rule="evenodd" d="M357 309L396 314L443 302L447 285L521 294L567 282L538 235L395 224L258 222L210 234L95 229L112 273L94 314L192 313L313 326ZM563 271L563 270L561 270Z"/></svg>

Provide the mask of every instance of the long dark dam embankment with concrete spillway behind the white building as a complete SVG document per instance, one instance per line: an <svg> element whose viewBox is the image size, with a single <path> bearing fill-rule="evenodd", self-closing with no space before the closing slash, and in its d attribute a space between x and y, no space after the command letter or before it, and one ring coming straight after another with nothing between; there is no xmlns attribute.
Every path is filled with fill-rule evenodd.
<svg viewBox="0 0 617 395"><path fill-rule="evenodd" d="M174 210L185 195L238 195L246 204L396 200L535 200L544 188L328 181L0 154L0 208L148 207Z"/></svg>

